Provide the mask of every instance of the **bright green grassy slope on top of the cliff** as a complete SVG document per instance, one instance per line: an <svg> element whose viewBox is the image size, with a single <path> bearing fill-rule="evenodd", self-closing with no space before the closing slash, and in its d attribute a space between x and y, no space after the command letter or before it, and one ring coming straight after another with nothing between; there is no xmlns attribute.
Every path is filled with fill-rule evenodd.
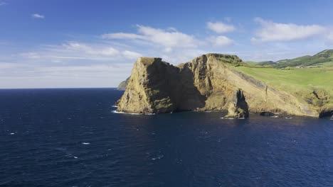
<svg viewBox="0 0 333 187"><path fill-rule="evenodd" d="M314 90L324 90L331 100L324 106L333 106L333 63L322 64L323 67L305 69L273 69L259 67L233 67L239 72L262 81L268 86L287 91L304 98Z"/></svg>

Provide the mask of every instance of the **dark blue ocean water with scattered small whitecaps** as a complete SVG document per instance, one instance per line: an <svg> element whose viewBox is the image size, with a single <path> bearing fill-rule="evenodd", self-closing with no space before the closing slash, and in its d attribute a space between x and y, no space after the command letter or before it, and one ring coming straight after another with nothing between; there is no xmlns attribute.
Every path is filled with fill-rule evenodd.
<svg viewBox="0 0 333 187"><path fill-rule="evenodd" d="M333 186L333 120L112 113L121 95L0 90L0 186Z"/></svg>

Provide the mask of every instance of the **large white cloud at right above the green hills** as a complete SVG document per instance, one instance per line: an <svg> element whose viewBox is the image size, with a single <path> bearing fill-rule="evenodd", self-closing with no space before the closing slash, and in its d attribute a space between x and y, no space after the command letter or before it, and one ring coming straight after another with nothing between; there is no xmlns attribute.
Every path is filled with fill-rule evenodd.
<svg viewBox="0 0 333 187"><path fill-rule="evenodd" d="M251 39L253 42L302 40L327 31L327 28L319 25L302 26L294 23L275 23L265 21L262 18L255 18L255 22L260 23L261 28L255 33L257 38Z"/></svg>

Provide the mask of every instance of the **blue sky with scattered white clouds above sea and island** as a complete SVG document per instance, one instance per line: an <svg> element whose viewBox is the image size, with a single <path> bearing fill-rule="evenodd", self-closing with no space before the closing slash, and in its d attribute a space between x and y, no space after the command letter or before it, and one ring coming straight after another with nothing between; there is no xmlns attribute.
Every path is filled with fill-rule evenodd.
<svg viewBox="0 0 333 187"><path fill-rule="evenodd" d="M138 57L333 48L333 1L0 0L0 89L116 87Z"/></svg>

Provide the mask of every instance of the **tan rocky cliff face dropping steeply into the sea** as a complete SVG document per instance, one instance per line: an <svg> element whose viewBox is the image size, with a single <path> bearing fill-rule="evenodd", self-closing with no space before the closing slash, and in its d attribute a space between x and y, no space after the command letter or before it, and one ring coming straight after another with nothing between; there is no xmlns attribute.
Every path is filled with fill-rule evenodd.
<svg viewBox="0 0 333 187"><path fill-rule="evenodd" d="M135 62L117 111L168 113L172 111L228 111L234 93L242 89L248 111L319 116L306 102L233 70L243 65L235 55L207 54L173 66L160 58Z"/></svg>

